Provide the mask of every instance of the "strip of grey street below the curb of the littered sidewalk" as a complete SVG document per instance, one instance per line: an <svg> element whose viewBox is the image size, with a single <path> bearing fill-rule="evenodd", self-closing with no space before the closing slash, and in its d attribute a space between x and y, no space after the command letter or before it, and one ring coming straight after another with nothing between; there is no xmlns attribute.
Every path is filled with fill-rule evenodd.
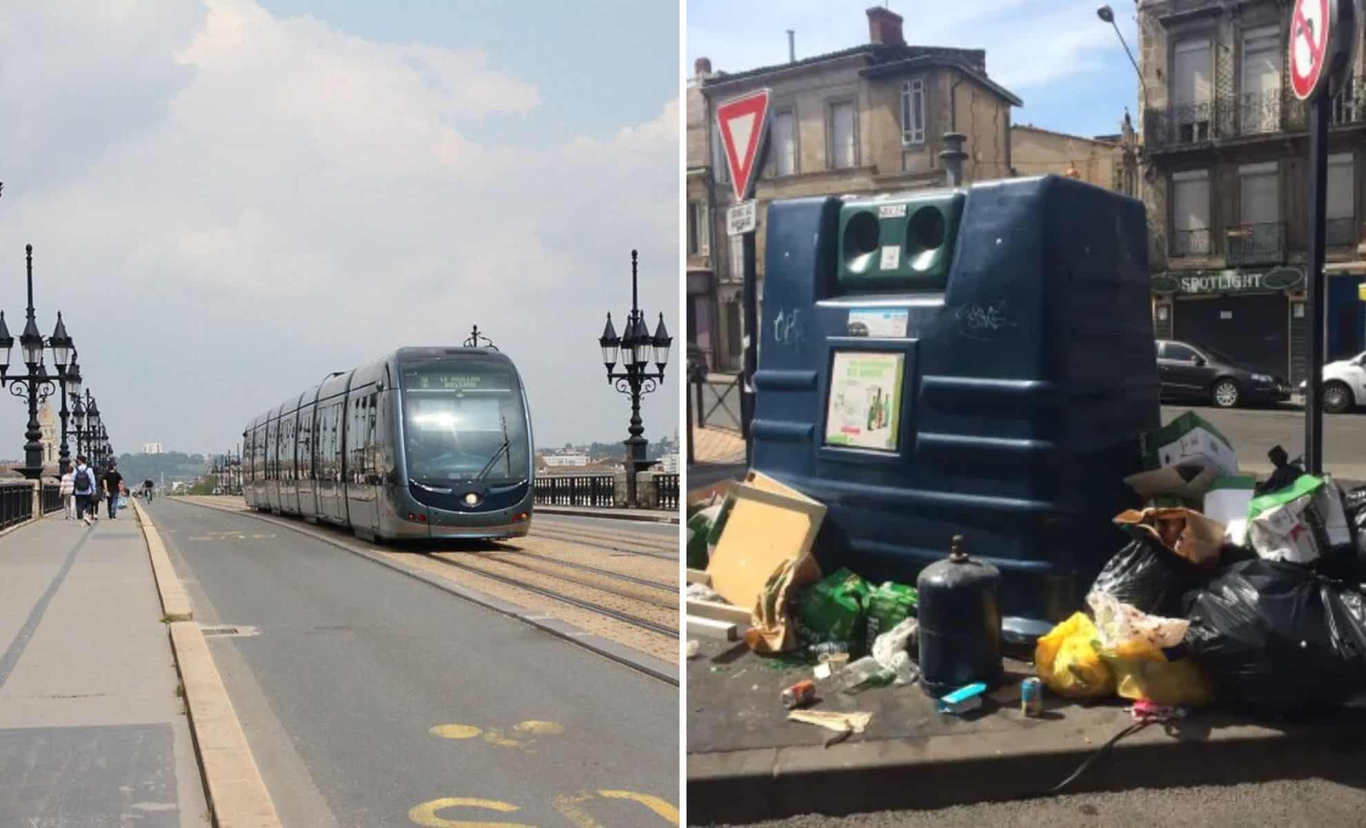
<svg viewBox="0 0 1366 828"><path fill-rule="evenodd" d="M907 779L906 784L915 784ZM984 780L989 784L989 780ZM899 810L824 817L806 814L754 823L755 828L1171 828L1173 825L1274 825L1320 828L1361 825L1366 777L1264 784L1139 788L1115 794L1068 794L941 810Z"/></svg>

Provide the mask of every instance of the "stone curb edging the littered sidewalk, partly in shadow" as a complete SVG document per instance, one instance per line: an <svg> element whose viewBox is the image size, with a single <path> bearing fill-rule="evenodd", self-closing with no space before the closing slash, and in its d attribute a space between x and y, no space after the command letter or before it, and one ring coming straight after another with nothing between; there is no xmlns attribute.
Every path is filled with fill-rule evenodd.
<svg viewBox="0 0 1366 828"><path fill-rule="evenodd" d="M1127 724L1116 717L1115 732ZM1330 720L1233 726L1201 734L1201 720L1150 726L1119 742L1061 792L1113 792L1281 779L1343 777L1366 756L1361 728ZM1063 726L1065 728L1065 726ZM1184 732L1183 732L1184 731ZM798 814L922 810L1052 795L1115 732L1035 750L996 747L1003 734L944 735L687 756L690 825ZM1008 746L1008 742L1003 746Z"/></svg>

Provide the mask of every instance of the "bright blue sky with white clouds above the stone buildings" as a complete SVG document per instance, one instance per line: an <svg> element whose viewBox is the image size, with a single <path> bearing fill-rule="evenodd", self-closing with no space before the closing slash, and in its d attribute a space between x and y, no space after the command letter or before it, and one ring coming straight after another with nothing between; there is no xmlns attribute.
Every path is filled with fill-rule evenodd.
<svg viewBox="0 0 1366 828"><path fill-rule="evenodd" d="M710 57L713 71L785 63L787 30L796 57L867 42L872 0L690 0L687 67ZM1139 123L1138 74L1100 0L889 0L904 18L906 42L986 49L986 71L1024 101L1012 123L1078 135L1120 131L1124 107ZM1137 49L1134 0L1111 0L1115 23ZM1137 51L1134 52L1138 57Z"/></svg>

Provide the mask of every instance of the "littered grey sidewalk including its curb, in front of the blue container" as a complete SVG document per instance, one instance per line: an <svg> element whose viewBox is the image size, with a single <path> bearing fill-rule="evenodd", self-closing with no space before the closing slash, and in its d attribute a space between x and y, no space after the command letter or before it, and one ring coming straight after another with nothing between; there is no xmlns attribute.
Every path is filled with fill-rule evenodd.
<svg viewBox="0 0 1366 828"><path fill-rule="evenodd" d="M784 687L811 678L810 667L784 667L744 644L702 638L699 646L687 661L690 825L1044 795L1132 724L1130 702L1082 705L1046 689L1042 716L1026 719L1019 682L1033 670L1007 659L1004 686L966 717L936 712L919 685L846 695L817 682L813 709L873 715L865 732L825 747L833 734L787 721L780 702ZM1064 791L1343 779L1366 756L1363 743L1362 710L1290 723L1208 708L1121 739Z"/></svg>

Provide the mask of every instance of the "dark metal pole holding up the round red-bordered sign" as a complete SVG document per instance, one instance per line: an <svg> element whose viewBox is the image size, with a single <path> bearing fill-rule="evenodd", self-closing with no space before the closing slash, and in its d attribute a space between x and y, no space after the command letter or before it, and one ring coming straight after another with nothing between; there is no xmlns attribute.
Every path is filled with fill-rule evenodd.
<svg viewBox="0 0 1366 828"><path fill-rule="evenodd" d="M1324 213L1328 198L1328 107L1320 94L1309 113L1309 383L1305 396L1305 470L1324 471Z"/></svg>

